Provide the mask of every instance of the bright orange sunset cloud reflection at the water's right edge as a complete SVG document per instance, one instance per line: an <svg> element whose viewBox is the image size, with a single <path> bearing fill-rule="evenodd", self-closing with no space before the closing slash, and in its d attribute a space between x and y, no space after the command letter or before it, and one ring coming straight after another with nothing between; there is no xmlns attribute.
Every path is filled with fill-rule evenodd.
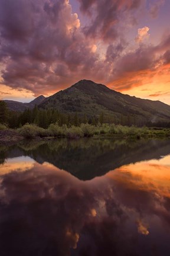
<svg viewBox="0 0 170 256"><path fill-rule="evenodd" d="M126 187L155 191L170 197L170 156L164 159L139 162L108 172L107 177Z"/></svg>

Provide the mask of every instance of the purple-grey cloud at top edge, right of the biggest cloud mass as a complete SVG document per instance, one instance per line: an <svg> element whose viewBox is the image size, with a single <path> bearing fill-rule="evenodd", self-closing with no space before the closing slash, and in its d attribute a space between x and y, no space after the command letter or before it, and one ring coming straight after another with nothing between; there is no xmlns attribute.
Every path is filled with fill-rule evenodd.
<svg viewBox="0 0 170 256"><path fill-rule="evenodd" d="M134 22L140 0L79 0L80 10L87 14L90 22L83 28L87 37L109 41L120 36L119 25ZM122 23L123 20L123 23ZM125 23L126 21L126 23Z"/></svg>

